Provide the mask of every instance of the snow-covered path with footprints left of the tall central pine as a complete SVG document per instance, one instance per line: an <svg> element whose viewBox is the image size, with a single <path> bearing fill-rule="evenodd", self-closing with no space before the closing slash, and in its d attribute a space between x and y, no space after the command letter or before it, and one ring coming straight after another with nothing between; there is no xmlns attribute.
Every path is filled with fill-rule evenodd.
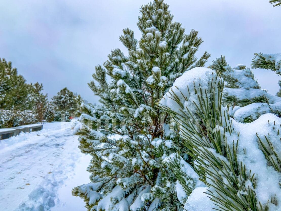
<svg viewBox="0 0 281 211"><path fill-rule="evenodd" d="M89 182L90 157L80 153L71 123L0 140L1 211L86 210L71 189Z"/></svg>

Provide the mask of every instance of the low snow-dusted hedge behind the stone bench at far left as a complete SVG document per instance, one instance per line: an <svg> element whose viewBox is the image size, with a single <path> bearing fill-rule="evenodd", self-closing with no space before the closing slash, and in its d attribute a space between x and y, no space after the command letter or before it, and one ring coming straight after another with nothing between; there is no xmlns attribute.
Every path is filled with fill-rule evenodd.
<svg viewBox="0 0 281 211"><path fill-rule="evenodd" d="M0 128L17 127L36 123L37 121L37 116L31 111L0 109Z"/></svg>

